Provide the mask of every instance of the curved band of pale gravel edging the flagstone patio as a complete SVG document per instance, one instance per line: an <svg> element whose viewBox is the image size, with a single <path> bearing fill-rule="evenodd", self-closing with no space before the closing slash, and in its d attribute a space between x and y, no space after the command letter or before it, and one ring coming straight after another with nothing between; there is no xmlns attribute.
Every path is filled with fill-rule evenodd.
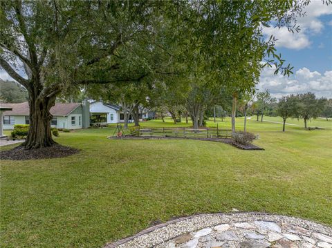
<svg viewBox="0 0 332 248"><path fill-rule="evenodd" d="M249 219L290 222L311 231L324 233L328 236L332 235L331 227L315 223L310 220L304 220L301 218L295 218L290 216L279 216L271 213L259 212L203 213L194 216L181 217L174 220L169 220L165 223L154 225L143 231L140 231L139 233L136 233L133 236L109 243L105 245L104 248L132 247L131 245L133 244L135 244L135 247L153 247L155 245L160 245L163 242L171 240L172 238L176 238L183 233L196 231L204 227L210 227L212 225L219 225L221 223L248 221ZM183 226L185 227L184 229ZM167 227L169 227L168 230ZM169 233L167 233L167 231ZM160 238L162 232L165 233L165 237ZM151 241L154 240L154 236L156 237L156 239L158 237L158 240Z"/></svg>

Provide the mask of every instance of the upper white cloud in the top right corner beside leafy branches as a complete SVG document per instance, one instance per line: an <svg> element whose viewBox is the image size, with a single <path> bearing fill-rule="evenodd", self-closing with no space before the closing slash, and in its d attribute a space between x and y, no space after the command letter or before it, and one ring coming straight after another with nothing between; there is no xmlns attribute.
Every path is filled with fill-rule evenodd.
<svg viewBox="0 0 332 248"><path fill-rule="evenodd" d="M287 28L266 28L263 31L266 37L274 35L278 39L275 43L277 47L300 50L311 45L310 36L317 35L324 29L324 23L318 19L322 15L332 14L332 4L326 6L322 1L311 1L304 10L306 15L297 19L297 24L301 28L299 32L289 32ZM332 21L329 22L332 25Z"/></svg>

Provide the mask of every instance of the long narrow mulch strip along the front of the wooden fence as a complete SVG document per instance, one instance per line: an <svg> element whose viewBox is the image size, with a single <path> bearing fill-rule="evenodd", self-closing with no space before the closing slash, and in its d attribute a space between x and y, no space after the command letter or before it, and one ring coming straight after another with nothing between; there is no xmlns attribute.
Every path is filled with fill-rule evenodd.
<svg viewBox="0 0 332 248"><path fill-rule="evenodd" d="M242 150L264 150L259 146L255 146L255 144L239 144L234 142L233 139L230 138L210 138L210 137L160 137L160 136L125 136L125 137L108 137L110 140L205 140L212 142L223 142L225 144L231 144L232 146L237 147Z"/></svg>

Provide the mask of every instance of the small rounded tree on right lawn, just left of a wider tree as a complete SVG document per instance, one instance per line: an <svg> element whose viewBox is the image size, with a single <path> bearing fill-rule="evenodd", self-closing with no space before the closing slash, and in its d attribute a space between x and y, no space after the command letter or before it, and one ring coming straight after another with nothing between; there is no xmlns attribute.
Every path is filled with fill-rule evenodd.
<svg viewBox="0 0 332 248"><path fill-rule="evenodd" d="M299 105L298 97L295 95L288 95L284 96L279 99L279 102L277 104L277 115L282 117L283 125L282 125L282 131L285 131L285 125L286 120L288 117L297 117L297 109Z"/></svg>

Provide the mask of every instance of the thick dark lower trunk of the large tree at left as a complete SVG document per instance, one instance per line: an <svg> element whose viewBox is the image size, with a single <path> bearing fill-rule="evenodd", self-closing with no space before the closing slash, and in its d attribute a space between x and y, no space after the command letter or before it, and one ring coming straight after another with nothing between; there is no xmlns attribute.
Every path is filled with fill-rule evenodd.
<svg viewBox="0 0 332 248"><path fill-rule="evenodd" d="M39 99L30 93L30 127L26 142L22 144L26 149L38 149L57 144L52 139L50 131L50 108L55 104L55 97L52 99Z"/></svg>

